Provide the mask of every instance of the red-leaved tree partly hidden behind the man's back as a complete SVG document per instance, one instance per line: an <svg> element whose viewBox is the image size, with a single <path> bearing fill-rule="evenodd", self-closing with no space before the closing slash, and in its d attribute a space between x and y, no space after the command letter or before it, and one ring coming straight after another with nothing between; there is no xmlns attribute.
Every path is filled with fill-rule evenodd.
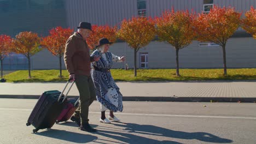
<svg viewBox="0 0 256 144"><path fill-rule="evenodd" d="M41 46L48 49L54 56L59 57L60 78L62 77L61 59L65 52L66 40L72 35L73 29L56 27L50 30L48 37L42 38Z"/></svg>

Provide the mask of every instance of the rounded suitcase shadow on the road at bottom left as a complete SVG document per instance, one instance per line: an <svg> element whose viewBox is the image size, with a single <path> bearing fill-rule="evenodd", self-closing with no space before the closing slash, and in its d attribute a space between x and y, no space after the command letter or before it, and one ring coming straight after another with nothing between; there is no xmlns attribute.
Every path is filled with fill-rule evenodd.
<svg viewBox="0 0 256 144"><path fill-rule="evenodd" d="M79 134L71 131L57 129L50 129L35 134L75 143L91 142L97 140L98 138L97 136L92 136L90 133Z"/></svg>

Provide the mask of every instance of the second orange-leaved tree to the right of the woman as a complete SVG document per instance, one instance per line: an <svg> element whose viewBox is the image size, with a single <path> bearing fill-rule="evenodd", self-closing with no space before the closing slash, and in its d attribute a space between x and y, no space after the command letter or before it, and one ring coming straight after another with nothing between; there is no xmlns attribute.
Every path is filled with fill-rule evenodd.
<svg viewBox="0 0 256 144"><path fill-rule="evenodd" d="M192 43L194 15L187 11L165 11L156 17L156 34L160 41L167 41L176 49L176 75L179 75L179 50Z"/></svg>

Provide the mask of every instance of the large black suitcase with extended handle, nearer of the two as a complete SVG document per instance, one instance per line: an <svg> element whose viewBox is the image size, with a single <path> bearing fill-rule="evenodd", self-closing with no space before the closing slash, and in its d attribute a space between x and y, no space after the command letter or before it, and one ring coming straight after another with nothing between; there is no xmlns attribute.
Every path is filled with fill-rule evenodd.
<svg viewBox="0 0 256 144"><path fill-rule="evenodd" d="M63 91L46 91L38 99L37 104L34 106L30 117L28 117L26 125L33 125L36 129L33 129L33 133L36 133L39 129L50 129L56 122L57 117L60 115L64 106L67 103L67 94L74 84L72 82L66 95L63 94L69 81L66 83Z"/></svg>

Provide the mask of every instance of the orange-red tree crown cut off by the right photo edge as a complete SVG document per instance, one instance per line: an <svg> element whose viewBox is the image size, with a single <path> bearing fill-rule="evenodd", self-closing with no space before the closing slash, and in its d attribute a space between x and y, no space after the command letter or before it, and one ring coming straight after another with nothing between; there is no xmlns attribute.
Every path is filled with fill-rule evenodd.
<svg viewBox="0 0 256 144"><path fill-rule="evenodd" d="M256 9L251 7L249 11L246 12L245 18L242 19L242 28L249 34L253 35L256 39Z"/></svg>

